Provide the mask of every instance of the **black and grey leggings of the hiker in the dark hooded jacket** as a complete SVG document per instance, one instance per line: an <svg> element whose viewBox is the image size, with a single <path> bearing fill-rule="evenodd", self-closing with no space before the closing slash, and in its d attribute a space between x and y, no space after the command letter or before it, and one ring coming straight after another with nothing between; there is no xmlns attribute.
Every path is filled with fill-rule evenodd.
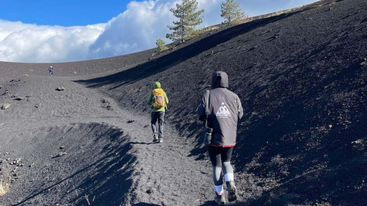
<svg viewBox="0 0 367 206"><path fill-rule="evenodd" d="M232 173L233 168L230 165L230 158L232 156L233 147L213 147L207 146L209 158L213 167L213 181L214 185L219 186L223 184L223 173Z"/></svg>

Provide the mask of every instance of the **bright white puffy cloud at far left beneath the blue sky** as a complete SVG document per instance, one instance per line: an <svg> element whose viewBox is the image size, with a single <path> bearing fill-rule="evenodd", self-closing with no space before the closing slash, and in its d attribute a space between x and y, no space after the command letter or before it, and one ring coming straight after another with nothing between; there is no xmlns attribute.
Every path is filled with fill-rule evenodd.
<svg viewBox="0 0 367 206"><path fill-rule="evenodd" d="M105 24L38 26L0 20L0 60L62 62L86 59Z"/></svg>

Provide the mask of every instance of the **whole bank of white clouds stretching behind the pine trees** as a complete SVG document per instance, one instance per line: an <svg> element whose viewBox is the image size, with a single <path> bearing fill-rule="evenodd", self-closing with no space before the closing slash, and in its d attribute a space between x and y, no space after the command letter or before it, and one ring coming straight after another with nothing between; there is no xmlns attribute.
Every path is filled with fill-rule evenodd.
<svg viewBox="0 0 367 206"><path fill-rule="evenodd" d="M224 0L197 0L204 8L200 27L220 23L220 4ZM286 9L293 0L281 0L283 7L272 0L261 0L257 7L277 6ZM313 0L300 0L311 2ZM130 1L127 10L107 23L87 26L39 26L0 19L0 61L63 62L128 54L155 47L155 40L165 38L175 17L170 8L181 0ZM251 0L239 0L244 11L255 13ZM288 4L287 4L288 3ZM302 4L300 3L300 4ZM245 9L244 5L248 7ZM248 8L253 12L248 12ZM264 11L266 9L263 9ZM259 10L260 12L262 9ZM266 10L268 11L268 10Z"/></svg>

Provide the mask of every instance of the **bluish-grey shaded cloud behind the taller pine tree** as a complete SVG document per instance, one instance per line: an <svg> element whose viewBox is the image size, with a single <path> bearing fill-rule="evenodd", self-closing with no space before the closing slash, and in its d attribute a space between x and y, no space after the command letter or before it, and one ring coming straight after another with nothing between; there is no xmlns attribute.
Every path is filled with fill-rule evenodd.
<svg viewBox="0 0 367 206"><path fill-rule="evenodd" d="M198 9L205 9L201 26L220 22L218 11L221 1L197 1ZM116 56L153 48L157 38L166 40L166 43L171 42L166 39L166 34L170 33L167 25L172 25L176 19L170 9L180 2L179 0L131 1L126 11L107 23L105 31L91 45L89 58Z"/></svg>

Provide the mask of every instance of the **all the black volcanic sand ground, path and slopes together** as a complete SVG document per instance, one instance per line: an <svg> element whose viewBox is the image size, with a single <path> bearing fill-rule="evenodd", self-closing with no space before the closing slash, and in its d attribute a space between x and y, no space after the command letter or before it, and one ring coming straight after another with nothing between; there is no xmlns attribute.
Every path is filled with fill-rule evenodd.
<svg viewBox="0 0 367 206"><path fill-rule="evenodd" d="M0 205L214 205L195 114L214 70L244 107L230 205L366 205L366 7L321 1L154 56L52 64L54 77L49 63L1 62L0 166L14 182ZM162 144L146 126L157 80L170 99Z"/></svg>

